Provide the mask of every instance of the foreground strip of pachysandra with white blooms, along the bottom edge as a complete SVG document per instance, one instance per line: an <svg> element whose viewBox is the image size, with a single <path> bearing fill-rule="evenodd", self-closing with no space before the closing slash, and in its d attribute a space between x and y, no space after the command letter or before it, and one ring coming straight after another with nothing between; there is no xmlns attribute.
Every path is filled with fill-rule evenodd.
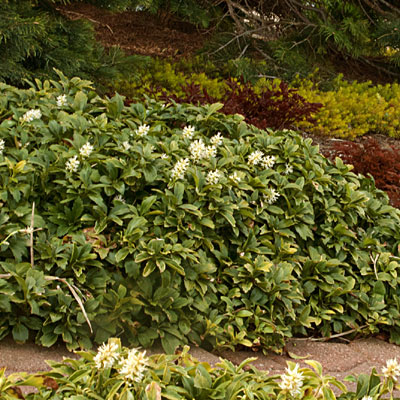
<svg viewBox="0 0 400 400"><path fill-rule="evenodd" d="M16 373L5 376L0 369L0 390L5 399L20 398L18 389L35 386L36 393L25 395L26 400L56 400L60 398L95 399L361 399L379 400L399 389L399 365L388 360L377 374L349 376L356 391L352 392L337 378L324 375L317 361L305 361L305 366L288 362L284 373L272 375L260 371L244 360L234 366L220 359L211 367L199 362L184 346L176 355L153 354L127 348L120 339L110 338L97 352L80 351L80 358L63 362L49 361L51 369L37 374ZM333 390L335 389L335 391ZM15 396L15 397L14 397ZM3 397L2 397L3 398Z"/></svg>

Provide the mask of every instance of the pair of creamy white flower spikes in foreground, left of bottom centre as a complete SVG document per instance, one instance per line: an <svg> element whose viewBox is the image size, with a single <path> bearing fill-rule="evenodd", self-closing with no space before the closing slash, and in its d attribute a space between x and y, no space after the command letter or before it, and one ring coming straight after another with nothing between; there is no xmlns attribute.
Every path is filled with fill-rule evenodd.
<svg viewBox="0 0 400 400"><path fill-rule="evenodd" d="M119 346L115 342L104 343L100 346L93 360L98 369L116 368L129 385L143 379L148 364L146 352L140 352L137 349L130 349L127 357L121 358Z"/></svg>

